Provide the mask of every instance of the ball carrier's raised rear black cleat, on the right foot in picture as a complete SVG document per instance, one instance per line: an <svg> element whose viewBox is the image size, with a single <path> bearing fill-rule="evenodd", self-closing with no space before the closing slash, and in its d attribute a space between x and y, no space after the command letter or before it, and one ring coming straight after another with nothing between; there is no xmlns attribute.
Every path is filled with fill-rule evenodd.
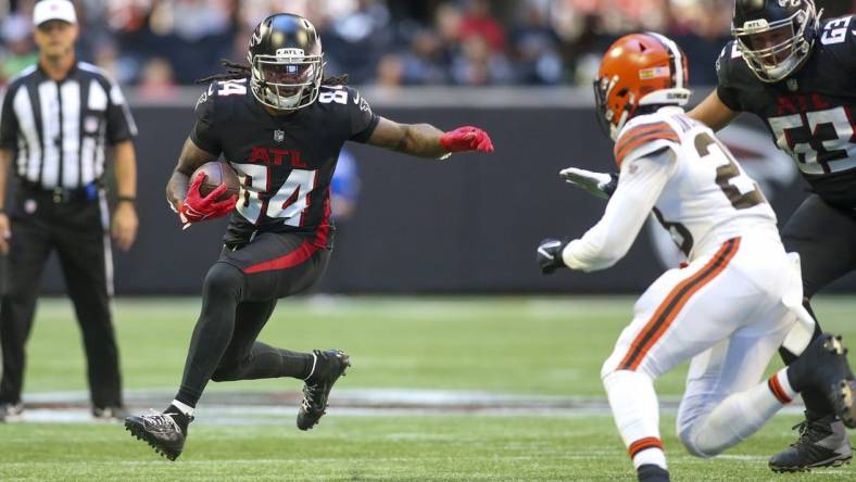
<svg viewBox="0 0 856 482"><path fill-rule="evenodd" d="M339 350L313 351L315 369L303 385L303 401L298 411L298 429L310 430L327 411L330 389L344 370L351 366L351 358Z"/></svg>

